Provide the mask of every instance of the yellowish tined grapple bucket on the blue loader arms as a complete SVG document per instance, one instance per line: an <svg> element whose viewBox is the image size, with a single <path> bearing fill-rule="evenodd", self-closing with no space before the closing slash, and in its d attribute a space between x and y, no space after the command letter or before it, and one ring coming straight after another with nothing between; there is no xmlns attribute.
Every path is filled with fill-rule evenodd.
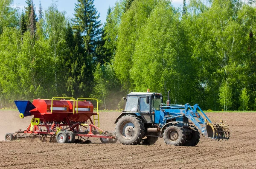
<svg viewBox="0 0 256 169"><path fill-rule="evenodd" d="M228 140L230 138L230 130L226 124L223 123L209 123L207 121L208 138L219 140Z"/></svg>

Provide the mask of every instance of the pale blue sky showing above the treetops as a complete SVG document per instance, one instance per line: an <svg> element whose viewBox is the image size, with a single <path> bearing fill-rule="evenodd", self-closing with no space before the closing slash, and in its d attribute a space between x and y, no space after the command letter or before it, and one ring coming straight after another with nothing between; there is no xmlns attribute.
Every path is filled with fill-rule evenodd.
<svg viewBox="0 0 256 169"><path fill-rule="evenodd" d="M115 5L117 0L94 0L94 5L100 13L100 20L102 23L106 21L106 15L108 7L112 7ZM182 7L183 0L171 0L173 6ZM13 0L14 7L20 8L20 11L24 9L24 6L27 6L26 0ZM59 11L66 11L66 17L73 17L75 3L77 0L41 0L41 5L43 10L46 10L49 6L51 6L52 2L55 2ZM38 13L39 8L39 0L33 0L35 4L36 12Z"/></svg>

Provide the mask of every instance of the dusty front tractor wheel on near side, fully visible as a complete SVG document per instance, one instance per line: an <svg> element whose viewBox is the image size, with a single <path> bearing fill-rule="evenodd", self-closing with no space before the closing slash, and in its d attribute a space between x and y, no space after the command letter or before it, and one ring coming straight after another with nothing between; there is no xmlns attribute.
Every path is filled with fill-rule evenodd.
<svg viewBox="0 0 256 169"><path fill-rule="evenodd" d="M182 146L186 141L186 132L182 127L169 126L163 132L163 139L166 144Z"/></svg>

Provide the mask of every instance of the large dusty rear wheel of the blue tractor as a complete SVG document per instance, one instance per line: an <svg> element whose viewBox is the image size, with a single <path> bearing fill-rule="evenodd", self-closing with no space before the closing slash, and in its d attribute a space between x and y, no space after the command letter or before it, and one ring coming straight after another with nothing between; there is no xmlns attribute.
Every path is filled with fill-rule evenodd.
<svg viewBox="0 0 256 169"><path fill-rule="evenodd" d="M140 144L143 135L143 122L135 115L124 115L116 123L116 137L122 144Z"/></svg>

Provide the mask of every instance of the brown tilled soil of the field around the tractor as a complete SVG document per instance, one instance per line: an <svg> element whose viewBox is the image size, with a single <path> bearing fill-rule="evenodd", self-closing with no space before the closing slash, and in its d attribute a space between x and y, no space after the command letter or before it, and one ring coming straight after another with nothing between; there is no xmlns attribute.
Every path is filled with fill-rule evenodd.
<svg viewBox="0 0 256 169"><path fill-rule="evenodd" d="M113 131L119 112L100 113L100 128ZM6 132L24 129L31 118L17 111L0 111L0 139ZM162 138L151 146L120 143L58 144L39 141L0 142L0 168L174 168L255 169L256 113L207 113L213 122L223 119L230 127L229 141L201 137L195 147L168 146ZM95 141L96 140L96 141Z"/></svg>

